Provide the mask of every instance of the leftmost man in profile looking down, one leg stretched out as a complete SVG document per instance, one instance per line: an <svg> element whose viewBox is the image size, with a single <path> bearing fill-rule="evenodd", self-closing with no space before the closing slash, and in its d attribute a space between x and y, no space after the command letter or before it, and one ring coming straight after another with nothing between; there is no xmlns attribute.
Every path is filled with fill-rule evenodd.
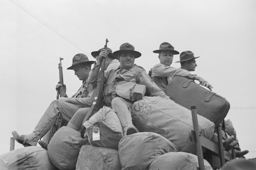
<svg viewBox="0 0 256 170"><path fill-rule="evenodd" d="M94 88L87 82L87 79L93 63L94 61L89 61L86 55L76 54L73 57L73 64L67 69L75 71L75 75L83 81L83 85L72 97L61 97L58 100L52 101L32 133L18 135L16 131L13 131L12 136L14 139L25 147L36 146L38 140L55 125L59 116L61 116L61 119L68 122L80 108L87 107L89 111L93 103ZM57 91L60 86L61 84L56 85Z"/></svg>

